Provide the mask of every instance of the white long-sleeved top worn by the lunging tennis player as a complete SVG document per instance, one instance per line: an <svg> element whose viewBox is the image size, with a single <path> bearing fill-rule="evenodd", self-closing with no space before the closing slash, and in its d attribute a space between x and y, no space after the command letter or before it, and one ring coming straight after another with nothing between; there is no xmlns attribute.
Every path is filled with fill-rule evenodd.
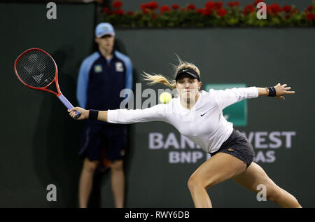
<svg viewBox="0 0 315 222"><path fill-rule="evenodd" d="M204 151L213 153L218 151L233 131L233 124L223 117L223 109L242 99L255 97L258 97L255 87L211 89L209 92L202 90L192 109L184 108L177 97L168 104L158 104L147 109L109 110L107 118L109 123L124 124L164 121L172 124Z"/></svg>

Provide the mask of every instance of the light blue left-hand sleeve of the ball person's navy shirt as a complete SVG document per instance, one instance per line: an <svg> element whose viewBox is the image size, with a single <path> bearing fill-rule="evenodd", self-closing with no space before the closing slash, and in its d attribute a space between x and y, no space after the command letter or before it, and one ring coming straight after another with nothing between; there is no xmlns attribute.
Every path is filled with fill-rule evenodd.
<svg viewBox="0 0 315 222"><path fill-rule="evenodd" d="M89 84L89 74L92 65L100 57L98 52L93 53L83 60L78 74L78 83L76 88L76 99L80 107L85 109L87 102L87 85Z"/></svg>

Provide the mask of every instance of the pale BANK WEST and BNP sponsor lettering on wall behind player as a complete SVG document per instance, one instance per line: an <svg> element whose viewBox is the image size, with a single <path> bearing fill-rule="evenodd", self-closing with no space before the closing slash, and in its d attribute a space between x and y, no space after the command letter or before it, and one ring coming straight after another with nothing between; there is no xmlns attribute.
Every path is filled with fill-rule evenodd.
<svg viewBox="0 0 315 222"><path fill-rule="evenodd" d="M246 133L242 132L246 137ZM263 149L264 151L255 151L254 162L275 162L276 152L275 148L291 148L293 136L296 132L249 132L248 141L253 144L255 149ZM179 139L176 137L180 137ZM211 158L211 155L204 151L196 151L200 149L193 141L190 141L183 135L177 136L174 132L169 132L166 137L160 132L150 132L148 134L148 145L151 150L169 150L169 163L196 163ZM183 149L190 149L193 151L181 151ZM268 150L271 148L272 150Z"/></svg>

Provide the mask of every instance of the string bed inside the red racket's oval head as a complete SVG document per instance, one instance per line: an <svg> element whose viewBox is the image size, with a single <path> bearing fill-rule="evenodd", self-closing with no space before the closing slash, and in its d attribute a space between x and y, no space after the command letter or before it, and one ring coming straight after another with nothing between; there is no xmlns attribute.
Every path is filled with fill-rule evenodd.
<svg viewBox="0 0 315 222"><path fill-rule="evenodd" d="M31 50L22 55L16 70L23 82L35 88L49 85L56 74L55 62L40 50Z"/></svg>

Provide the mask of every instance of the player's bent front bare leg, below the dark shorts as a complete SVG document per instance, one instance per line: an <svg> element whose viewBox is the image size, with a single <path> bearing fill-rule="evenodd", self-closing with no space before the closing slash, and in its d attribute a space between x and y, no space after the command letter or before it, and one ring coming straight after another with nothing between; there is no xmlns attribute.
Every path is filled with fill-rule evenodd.
<svg viewBox="0 0 315 222"><path fill-rule="evenodd" d="M217 153L200 165L188 180L195 207L212 207L207 188L230 179L245 169L245 162L228 153Z"/></svg>

